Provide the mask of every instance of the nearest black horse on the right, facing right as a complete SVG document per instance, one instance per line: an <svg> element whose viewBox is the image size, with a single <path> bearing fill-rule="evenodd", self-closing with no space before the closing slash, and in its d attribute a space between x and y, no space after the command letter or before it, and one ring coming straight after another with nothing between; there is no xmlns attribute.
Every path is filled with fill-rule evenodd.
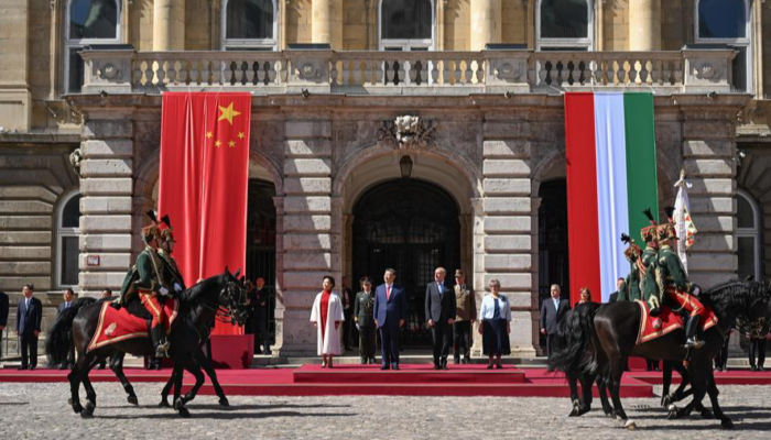
<svg viewBox="0 0 771 440"><path fill-rule="evenodd" d="M609 416L634 429L620 402L620 384L623 369L630 355L663 359L671 362L687 361L687 376L693 388L693 400L682 409L670 406L671 418L688 416L709 394L714 414L723 427L732 427L731 420L720 409L718 389L712 361L723 346L724 338L737 318L742 322L759 324L768 332L771 319L771 298L762 283L732 280L703 293L699 299L713 309L718 324L703 332L705 345L689 352L683 346L684 333L673 331L661 338L636 344L642 314L634 302L611 302L602 307L578 307L566 318L566 329L578 329L555 348L550 366L565 372L568 381L580 381L585 386L584 399L590 402L591 382L599 377L610 389L612 407L604 409ZM599 383L598 383L599 385ZM586 389L588 388L588 391ZM572 387L573 389L573 387ZM589 398L587 398L587 393ZM576 393L577 395L577 393ZM605 404L605 403L604 403ZM588 409L587 409L588 410Z"/></svg>

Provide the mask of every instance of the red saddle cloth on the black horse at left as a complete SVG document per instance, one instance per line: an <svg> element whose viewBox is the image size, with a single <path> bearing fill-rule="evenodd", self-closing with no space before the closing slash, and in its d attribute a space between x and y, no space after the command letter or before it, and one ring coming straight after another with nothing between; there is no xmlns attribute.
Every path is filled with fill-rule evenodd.
<svg viewBox="0 0 771 440"><path fill-rule="evenodd" d="M171 326L176 318L178 304L177 300L166 300L163 305L166 316L169 317L169 326ZM99 311L97 331L94 333L94 338L91 338L87 351L133 338L150 338L148 333L148 321L129 314L126 307L115 309L110 307L109 302L105 302L101 305L101 310Z"/></svg>

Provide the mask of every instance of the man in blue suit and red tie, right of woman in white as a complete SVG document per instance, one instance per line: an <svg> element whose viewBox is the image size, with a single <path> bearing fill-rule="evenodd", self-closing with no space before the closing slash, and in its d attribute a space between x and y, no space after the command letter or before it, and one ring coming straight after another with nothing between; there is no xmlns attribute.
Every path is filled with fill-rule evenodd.
<svg viewBox="0 0 771 440"><path fill-rule="evenodd" d="M399 329L406 321L406 292L393 284L397 271L387 268L384 284L374 290L374 324L380 330L382 365L380 370L399 370Z"/></svg>

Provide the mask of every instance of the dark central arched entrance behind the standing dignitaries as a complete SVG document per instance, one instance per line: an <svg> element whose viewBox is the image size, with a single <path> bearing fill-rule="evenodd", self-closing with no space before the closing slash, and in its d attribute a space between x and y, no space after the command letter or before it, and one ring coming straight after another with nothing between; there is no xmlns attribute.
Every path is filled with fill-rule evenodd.
<svg viewBox="0 0 771 440"><path fill-rule="evenodd" d="M397 283L408 293L410 318L402 334L406 346L430 342L424 300L434 270L445 267L452 284L452 274L460 267L458 215L449 194L416 179L378 185L354 208L354 277L369 275L379 285L387 268L397 271Z"/></svg>

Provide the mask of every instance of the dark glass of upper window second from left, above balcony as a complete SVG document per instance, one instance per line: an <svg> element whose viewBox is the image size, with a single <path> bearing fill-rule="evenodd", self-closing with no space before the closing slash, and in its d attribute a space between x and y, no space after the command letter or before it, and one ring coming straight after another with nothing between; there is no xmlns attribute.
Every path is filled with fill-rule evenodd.
<svg viewBox="0 0 771 440"><path fill-rule="evenodd" d="M273 38L272 0L229 0L226 38Z"/></svg>

